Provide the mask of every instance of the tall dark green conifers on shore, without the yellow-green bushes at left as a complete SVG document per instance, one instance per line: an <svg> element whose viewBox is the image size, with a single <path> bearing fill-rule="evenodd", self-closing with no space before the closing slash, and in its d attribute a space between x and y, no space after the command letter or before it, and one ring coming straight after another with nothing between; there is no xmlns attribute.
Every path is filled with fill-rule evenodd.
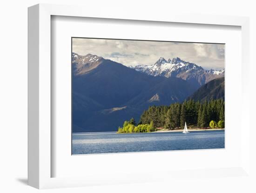
<svg viewBox="0 0 256 193"><path fill-rule="evenodd" d="M187 125L197 125L198 128L209 127L211 120L224 121L225 103L222 99L200 103L190 99L183 103L173 103L169 106L150 106L145 110L139 124L147 124L151 120L155 127L175 129Z"/></svg>

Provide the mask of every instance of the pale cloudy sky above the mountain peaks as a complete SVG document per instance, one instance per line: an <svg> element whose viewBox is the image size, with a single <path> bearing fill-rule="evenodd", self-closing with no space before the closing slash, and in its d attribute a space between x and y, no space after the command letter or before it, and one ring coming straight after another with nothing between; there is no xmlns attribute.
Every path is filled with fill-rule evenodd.
<svg viewBox="0 0 256 193"><path fill-rule="evenodd" d="M160 57L179 57L205 69L224 68L224 45L159 41L73 38L73 52L88 53L124 65L154 64Z"/></svg>

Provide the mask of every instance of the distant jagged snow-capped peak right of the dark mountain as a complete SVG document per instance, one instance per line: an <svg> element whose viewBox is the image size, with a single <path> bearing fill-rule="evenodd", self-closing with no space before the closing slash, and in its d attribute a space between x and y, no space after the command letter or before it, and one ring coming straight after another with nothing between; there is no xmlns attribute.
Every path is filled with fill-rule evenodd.
<svg viewBox="0 0 256 193"><path fill-rule="evenodd" d="M130 68L146 73L151 76L180 77L192 83L203 85L217 77L224 76L224 70L205 70L194 63L186 62L181 58L160 58L152 65L137 65Z"/></svg>

